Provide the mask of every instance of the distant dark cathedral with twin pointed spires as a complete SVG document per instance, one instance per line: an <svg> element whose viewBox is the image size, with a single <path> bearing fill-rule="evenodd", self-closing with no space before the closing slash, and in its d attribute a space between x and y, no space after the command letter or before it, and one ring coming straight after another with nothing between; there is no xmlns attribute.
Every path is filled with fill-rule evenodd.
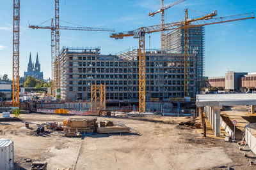
<svg viewBox="0 0 256 170"><path fill-rule="evenodd" d="M32 63L31 53L29 55L28 70L26 72L24 72L24 78L28 78L29 76L39 79L39 80L44 80L44 74L43 74L43 72L40 72L38 53L36 53L36 63L35 64Z"/></svg>

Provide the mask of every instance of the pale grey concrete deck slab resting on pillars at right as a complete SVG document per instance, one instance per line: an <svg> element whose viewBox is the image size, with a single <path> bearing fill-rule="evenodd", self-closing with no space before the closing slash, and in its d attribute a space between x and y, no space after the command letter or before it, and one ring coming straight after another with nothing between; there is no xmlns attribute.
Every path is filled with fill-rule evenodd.
<svg viewBox="0 0 256 170"><path fill-rule="evenodd" d="M256 105L256 94L198 94L196 106Z"/></svg>

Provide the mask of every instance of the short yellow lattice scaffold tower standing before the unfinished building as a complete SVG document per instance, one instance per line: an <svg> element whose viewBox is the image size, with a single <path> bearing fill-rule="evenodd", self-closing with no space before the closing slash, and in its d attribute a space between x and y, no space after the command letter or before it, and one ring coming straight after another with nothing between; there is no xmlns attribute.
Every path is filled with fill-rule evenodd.
<svg viewBox="0 0 256 170"><path fill-rule="evenodd" d="M104 111L106 110L106 84L95 85L92 84L92 106L91 111Z"/></svg>

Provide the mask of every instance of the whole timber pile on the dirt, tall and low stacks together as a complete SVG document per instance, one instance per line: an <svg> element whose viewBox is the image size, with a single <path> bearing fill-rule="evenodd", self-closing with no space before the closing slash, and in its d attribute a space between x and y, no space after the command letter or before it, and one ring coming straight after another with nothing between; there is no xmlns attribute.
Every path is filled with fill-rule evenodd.
<svg viewBox="0 0 256 170"><path fill-rule="evenodd" d="M97 117L68 118L63 122L64 135L67 137L81 137L82 133L125 133L129 127L115 125L112 121L97 122Z"/></svg>

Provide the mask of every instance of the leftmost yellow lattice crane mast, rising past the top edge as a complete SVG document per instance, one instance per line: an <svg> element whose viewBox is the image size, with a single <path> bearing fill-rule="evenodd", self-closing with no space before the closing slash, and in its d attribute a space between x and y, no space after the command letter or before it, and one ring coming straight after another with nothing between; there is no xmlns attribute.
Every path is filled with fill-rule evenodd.
<svg viewBox="0 0 256 170"><path fill-rule="evenodd" d="M20 0L13 0L12 104L19 106Z"/></svg>

